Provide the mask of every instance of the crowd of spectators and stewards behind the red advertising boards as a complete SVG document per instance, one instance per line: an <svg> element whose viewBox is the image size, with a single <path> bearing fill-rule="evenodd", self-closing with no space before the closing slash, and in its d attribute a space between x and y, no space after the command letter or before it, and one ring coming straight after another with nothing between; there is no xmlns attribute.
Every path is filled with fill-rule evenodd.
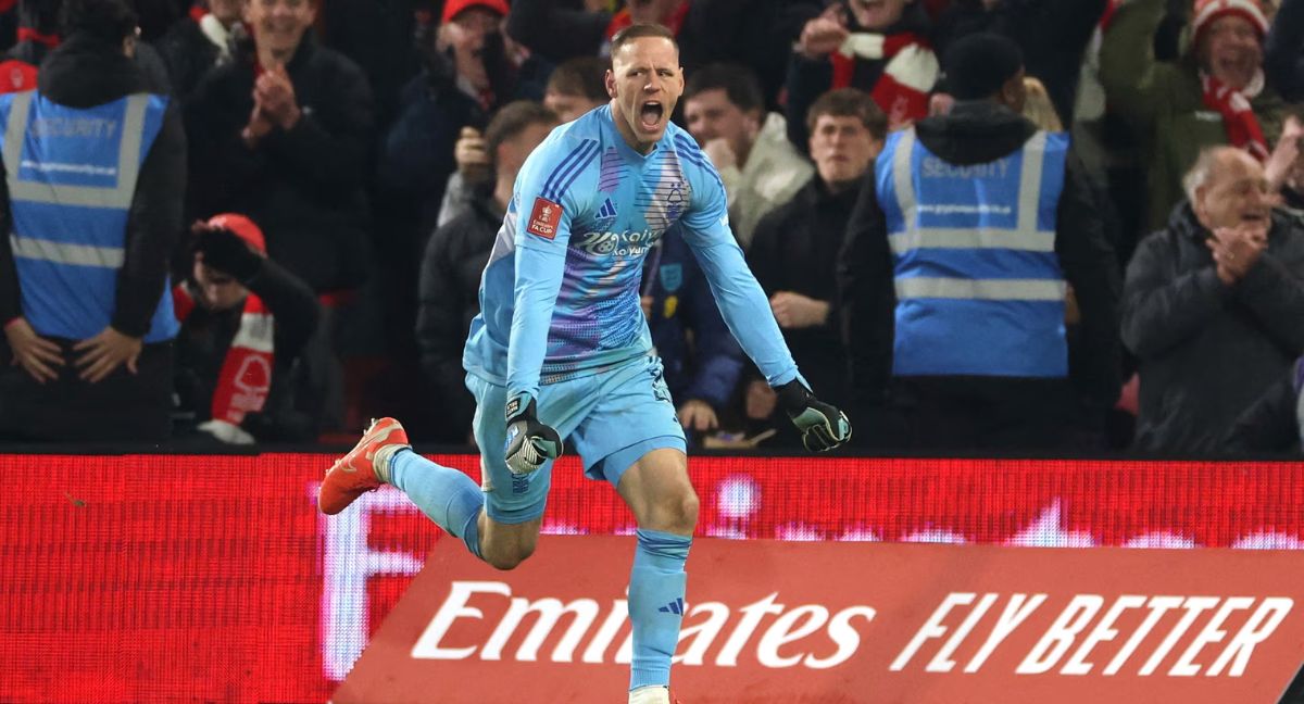
<svg viewBox="0 0 1304 704"><path fill-rule="evenodd" d="M1299 451L1304 0L0 0L0 438L471 442L515 175L635 22L859 451ZM23 180L106 129L134 190ZM695 446L799 446L673 227L642 304Z"/></svg>

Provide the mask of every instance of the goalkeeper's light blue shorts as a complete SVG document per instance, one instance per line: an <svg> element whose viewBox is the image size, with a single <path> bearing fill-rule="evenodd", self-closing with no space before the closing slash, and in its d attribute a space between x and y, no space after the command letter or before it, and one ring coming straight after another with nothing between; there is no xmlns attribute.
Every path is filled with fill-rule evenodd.
<svg viewBox="0 0 1304 704"><path fill-rule="evenodd" d="M553 463L529 475L512 475L503 455L507 389L475 374L467 374L467 389L476 396L473 426L485 511L498 523L526 523L542 516ZM589 478L605 478L613 488L626 469L652 450L673 447L682 452L687 446L661 360L653 356L540 386L539 420L575 447Z"/></svg>

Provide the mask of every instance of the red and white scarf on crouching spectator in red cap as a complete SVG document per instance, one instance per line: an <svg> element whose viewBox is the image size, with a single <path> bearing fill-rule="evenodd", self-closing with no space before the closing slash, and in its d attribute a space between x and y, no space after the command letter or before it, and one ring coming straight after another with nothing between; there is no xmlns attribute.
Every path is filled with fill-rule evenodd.
<svg viewBox="0 0 1304 704"><path fill-rule="evenodd" d="M194 310L190 286L190 282L185 282L172 289L176 319L183 323ZM218 385L213 389L213 421L239 429L246 413L262 411L271 389L271 313L258 296L249 293L240 313L240 327L222 361Z"/></svg>

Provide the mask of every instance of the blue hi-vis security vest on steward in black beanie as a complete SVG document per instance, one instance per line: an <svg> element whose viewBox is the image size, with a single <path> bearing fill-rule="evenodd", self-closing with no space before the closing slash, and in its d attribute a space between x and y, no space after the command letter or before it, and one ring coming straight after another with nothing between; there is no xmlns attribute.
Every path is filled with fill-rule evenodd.
<svg viewBox="0 0 1304 704"><path fill-rule="evenodd" d="M895 375L1065 377L1055 214L1068 136L1038 132L986 164L931 154L914 129L875 163L896 278Z"/></svg>

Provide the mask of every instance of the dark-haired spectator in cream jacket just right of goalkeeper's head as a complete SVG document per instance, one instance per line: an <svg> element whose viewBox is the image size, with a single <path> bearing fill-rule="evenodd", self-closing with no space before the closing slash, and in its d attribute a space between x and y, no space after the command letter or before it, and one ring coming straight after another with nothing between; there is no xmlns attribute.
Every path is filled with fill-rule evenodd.
<svg viewBox="0 0 1304 704"><path fill-rule="evenodd" d="M746 250L760 218L790 201L814 168L785 138L784 116L765 112L756 77L743 66L716 64L690 76L683 115L720 172L729 222Z"/></svg>

